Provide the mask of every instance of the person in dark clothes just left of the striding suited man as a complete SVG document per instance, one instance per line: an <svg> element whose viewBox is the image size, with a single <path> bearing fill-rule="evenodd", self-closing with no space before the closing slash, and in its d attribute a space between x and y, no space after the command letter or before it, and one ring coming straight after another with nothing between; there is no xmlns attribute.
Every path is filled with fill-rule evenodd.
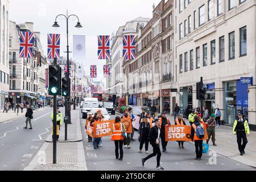
<svg viewBox="0 0 256 182"><path fill-rule="evenodd" d="M146 154L148 154L148 134L150 133L150 123L148 122L147 118L142 119L143 122L139 124L139 132L138 132L138 138L139 138L139 151L141 152L143 148L143 144L145 143L145 150Z"/></svg>

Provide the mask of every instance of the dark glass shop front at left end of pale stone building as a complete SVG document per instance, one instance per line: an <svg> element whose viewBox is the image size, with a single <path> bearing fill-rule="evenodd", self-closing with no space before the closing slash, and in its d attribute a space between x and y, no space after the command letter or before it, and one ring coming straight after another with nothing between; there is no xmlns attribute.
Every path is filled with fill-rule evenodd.
<svg viewBox="0 0 256 182"><path fill-rule="evenodd" d="M180 114L183 114L183 117L186 114L192 112L193 108L193 94L192 94L192 86L181 87L180 88ZM187 112L186 112L187 108Z"/></svg>

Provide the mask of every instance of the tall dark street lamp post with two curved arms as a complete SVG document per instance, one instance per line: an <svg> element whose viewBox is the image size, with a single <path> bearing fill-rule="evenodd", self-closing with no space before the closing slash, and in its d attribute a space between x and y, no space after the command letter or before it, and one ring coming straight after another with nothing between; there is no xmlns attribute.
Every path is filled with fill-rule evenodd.
<svg viewBox="0 0 256 182"><path fill-rule="evenodd" d="M67 52L67 74L66 74L65 77L69 78L69 52L71 52L71 51L69 51L69 46L68 46L68 20L69 20L69 18L71 16L76 16L76 18L78 19L78 22L77 22L75 27L76 28L81 28L82 26L79 22L78 16L74 15L74 14L68 15L68 11L67 11L67 15L59 14L59 15L56 16L55 22L54 22L52 27L56 27L56 28L60 27L59 24L57 23L58 16L64 16L65 19L66 19L66 24L67 24L67 51L65 51L65 52ZM70 88L70 85L69 85L69 88ZM69 90L69 93L70 93L70 90ZM71 124L71 113L70 113L71 110L69 109L69 105L70 105L69 99L70 99L70 94L69 94L68 97L67 96L65 97L65 116L68 116L68 123ZM65 125L65 127L66 127L66 125Z"/></svg>

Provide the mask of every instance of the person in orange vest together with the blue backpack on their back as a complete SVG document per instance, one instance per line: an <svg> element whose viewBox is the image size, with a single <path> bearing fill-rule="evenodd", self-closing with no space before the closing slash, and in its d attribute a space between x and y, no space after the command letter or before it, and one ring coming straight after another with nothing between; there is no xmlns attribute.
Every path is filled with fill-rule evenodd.
<svg viewBox="0 0 256 182"><path fill-rule="evenodd" d="M201 160L203 154L204 125L200 121L201 118L196 115L191 127L191 140L195 142L196 160Z"/></svg>

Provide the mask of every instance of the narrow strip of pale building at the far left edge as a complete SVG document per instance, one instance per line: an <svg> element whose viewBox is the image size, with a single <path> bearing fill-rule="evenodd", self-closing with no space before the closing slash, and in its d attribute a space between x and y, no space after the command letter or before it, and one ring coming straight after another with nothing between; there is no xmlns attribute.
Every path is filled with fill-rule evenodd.
<svg viewBox="0 0 256 182"><path fill-rule="evenodd" d="M8 101L9 94L9 1L0 1L0 110Z"/></svg>

